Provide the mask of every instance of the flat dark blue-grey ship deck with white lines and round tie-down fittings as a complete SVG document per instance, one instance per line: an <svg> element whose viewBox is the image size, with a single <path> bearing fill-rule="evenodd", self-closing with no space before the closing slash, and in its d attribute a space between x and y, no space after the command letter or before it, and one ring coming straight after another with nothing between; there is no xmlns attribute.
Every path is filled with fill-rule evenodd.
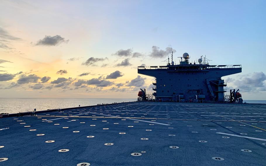
<svg viewBox="0 0 266 166"><path fill-rule="evenodd" d="M157 102L0 118L0 166L266 165L265 121L263 104Z"/></svg>

